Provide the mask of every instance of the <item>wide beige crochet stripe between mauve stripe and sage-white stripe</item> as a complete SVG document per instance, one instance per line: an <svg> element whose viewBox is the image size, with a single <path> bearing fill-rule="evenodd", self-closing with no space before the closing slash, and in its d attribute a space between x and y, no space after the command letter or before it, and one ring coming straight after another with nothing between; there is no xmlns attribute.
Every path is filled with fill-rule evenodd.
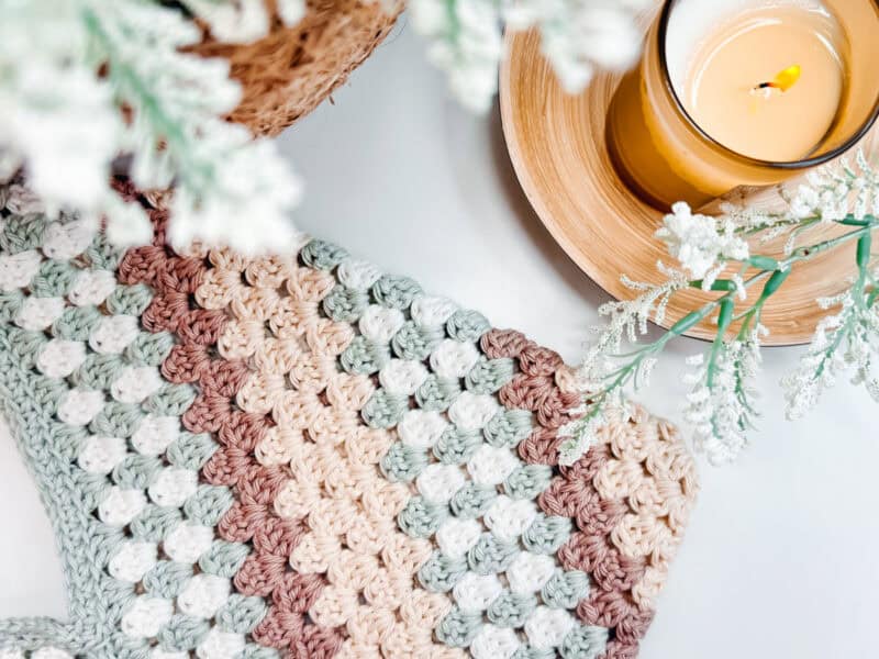
<svg viewBox="0 0 879 659"><path fill-rule="evenodd" d="M431 545L398 530L411 493L377 467L393 436L367 427L359 414L375 384L336 366L354 331L319 312L334 277L293 258L218 253L211 260L197 300L233 316L218 346L224 358L251 367L236 402L274 422L256 456L264 466L289 466L275 511L307 526L290 566L327 584L309 617L344 629L337 657L464 657L432 639L450 602L415 585Z"/></svg>

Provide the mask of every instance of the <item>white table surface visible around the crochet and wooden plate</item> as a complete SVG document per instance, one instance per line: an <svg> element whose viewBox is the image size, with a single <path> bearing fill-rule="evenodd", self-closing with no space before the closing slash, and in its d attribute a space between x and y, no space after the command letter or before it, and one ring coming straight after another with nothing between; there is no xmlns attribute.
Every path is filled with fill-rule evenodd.
<svg viewBox="0 0 879 659"><path fill-rule="evenodd" d="M607 295L530 209L497 110L460 110L423 46L403 18L334 104L281 135L307 183L297 222L574 362ZM687 340L660 362L639 396L656 414L678 418L681 356L702 347ZM875 409L841 384L810 417L786 422L777 382L797 356L767 351L765 416L741 461L700 465L698 507L642 658L877 655ZM0 431L0 616L64 617L48 521Z"/></svg>

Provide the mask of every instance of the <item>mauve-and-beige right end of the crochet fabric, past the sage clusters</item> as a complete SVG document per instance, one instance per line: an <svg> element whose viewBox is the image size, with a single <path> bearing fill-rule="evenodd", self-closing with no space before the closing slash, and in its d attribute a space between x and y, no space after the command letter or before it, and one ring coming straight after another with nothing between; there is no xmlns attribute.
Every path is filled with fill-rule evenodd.
<svg viewBox="0 0 879 659"><path fill-rule="evenodd" d="M530 463L558 469L539 504L548 515L576 522L558 558L566 569L589 573L596 585L577 613L587 624L612 629L602 659L631 659L650 624L696 498L693 460L672 426L632 405L628 418L604 425L577 462L559 466L559 429L569 420L565 412L574 413L568 402L576 393L572 372L558 355L535 348L514 331L492 330L481 343L490 357L527 362L499 398L508 407L538 411L538 425L519 453Z"/></svg>

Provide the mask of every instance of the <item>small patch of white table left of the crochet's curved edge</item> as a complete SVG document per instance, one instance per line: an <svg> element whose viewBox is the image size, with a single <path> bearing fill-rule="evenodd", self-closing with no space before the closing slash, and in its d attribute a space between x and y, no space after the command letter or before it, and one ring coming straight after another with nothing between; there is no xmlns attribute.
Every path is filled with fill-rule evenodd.
<svg viewBox="0 0 879 659"><path fill-rule="evenodd" d="M0 416L0 618L66 619L66 593L52 524L4 418Z"/></svg>

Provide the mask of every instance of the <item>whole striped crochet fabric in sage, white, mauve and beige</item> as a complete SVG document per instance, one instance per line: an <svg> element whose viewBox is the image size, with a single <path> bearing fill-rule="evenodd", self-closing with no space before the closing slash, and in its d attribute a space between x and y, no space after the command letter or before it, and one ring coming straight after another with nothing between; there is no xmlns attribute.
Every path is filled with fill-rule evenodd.
<svg viewBox="0 0 879 659"><path fill-rule="evenodd" d="M696 493L635 407L574 466L561 359L320 241L118 253L0 188L0 398L69 619L0 657L622 659Z"/></svg>

